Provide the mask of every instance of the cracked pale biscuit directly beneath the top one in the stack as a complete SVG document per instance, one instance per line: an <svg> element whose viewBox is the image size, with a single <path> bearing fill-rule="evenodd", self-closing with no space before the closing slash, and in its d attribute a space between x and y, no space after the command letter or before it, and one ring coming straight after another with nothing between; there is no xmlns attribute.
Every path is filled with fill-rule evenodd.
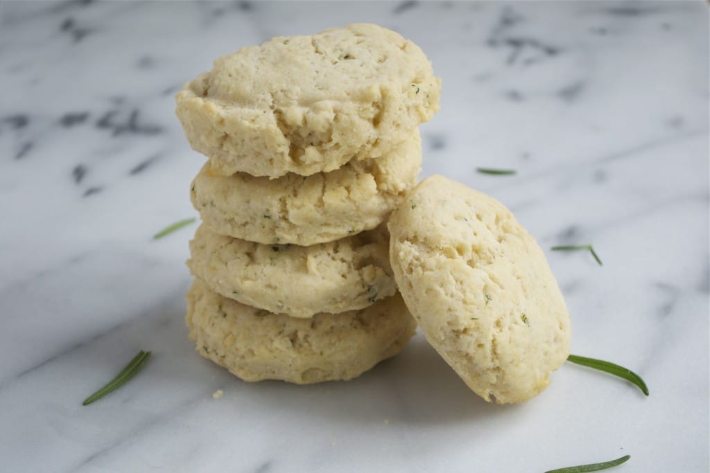
<svg viewBox="0 0 710 473"><path fill-rule="evenodd" d="M244 172L226 177L208 162L192 182L190 198L217 233L258 243L315 245L371 230L414 186L421 169L418 131L372 160L340 169L278 179Z"/></svg>

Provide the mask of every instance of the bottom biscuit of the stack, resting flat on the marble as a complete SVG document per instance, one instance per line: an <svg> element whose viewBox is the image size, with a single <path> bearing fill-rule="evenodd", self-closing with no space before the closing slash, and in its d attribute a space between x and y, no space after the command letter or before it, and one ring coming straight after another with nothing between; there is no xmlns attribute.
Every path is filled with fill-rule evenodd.
<svg viewBox="0 0 710 473"><path fill-rule="evenodd" d="M244 381L352 379L397 355L416 323L399 294L360 311L293 318L245 306L195 279L187 327L203 357Z"/></svg>

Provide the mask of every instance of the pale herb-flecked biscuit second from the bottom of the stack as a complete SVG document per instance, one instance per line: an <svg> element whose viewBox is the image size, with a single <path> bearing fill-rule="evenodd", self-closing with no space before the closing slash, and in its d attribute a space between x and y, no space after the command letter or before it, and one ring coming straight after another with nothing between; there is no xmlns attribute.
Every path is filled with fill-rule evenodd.
<svg viewBox="0 0 710 473"><path fill-rule="evenodd" d="M307 318L370 306L395 294L384 225L320 245L262 245L197 228L190 272L242 304Z"/></svg>

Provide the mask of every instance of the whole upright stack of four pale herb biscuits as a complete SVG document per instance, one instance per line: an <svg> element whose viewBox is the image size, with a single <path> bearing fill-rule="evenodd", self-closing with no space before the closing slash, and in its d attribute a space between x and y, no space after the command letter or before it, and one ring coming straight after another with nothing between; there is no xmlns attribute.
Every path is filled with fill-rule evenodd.
<svg viewBox="0 0 710 473"><path fill-rule="evenodd" d="M415 321L386 220L417 181L417 126L439 79L414 43L354 24L220 57L176 96L202 225L187 326L246 381L351 379L400 352Z"/></svg>

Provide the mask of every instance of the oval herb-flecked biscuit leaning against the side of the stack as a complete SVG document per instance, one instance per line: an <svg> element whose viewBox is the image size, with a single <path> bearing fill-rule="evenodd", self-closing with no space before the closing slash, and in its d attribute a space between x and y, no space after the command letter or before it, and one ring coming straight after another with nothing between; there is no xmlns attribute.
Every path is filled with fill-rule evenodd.
<svg viewBox="0 0 710 473"><path fill-rule="evenodd" d="M539 394L569 355L570 324L535 239L501 203L441 176L405 199L390 257L429 343L486 401Z"/></svg>

